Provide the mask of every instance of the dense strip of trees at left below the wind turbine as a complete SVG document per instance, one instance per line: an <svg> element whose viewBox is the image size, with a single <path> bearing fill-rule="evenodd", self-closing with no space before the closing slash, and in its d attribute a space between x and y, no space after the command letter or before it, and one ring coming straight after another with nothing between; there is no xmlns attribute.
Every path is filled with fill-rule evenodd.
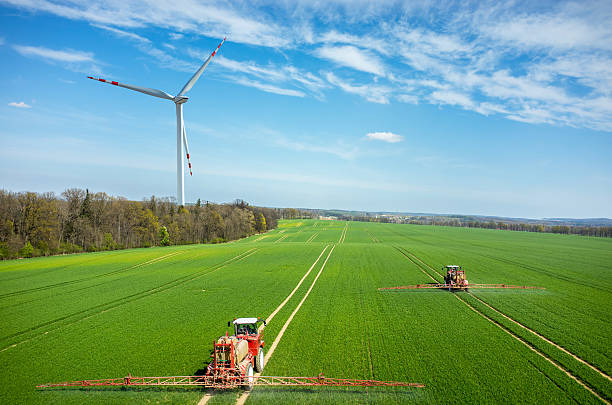
<svg viewBox="0 0 612 405"><path fill-rule="evenodd" d="M0 190L0 258L219 243L274 229L282 215L243 200L178 206L76 188L61 196Z"/></svg>

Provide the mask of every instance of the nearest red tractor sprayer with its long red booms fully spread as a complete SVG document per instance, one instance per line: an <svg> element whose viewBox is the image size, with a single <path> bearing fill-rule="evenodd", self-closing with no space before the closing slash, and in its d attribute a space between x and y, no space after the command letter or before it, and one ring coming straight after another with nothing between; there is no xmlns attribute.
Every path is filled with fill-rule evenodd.
<svg viewBox="0 0 612 405"><path fill-rule="evenodd" d="M254 374L264 368L265 342L263 329L266 321L261 318L235 318L227 323L234 326L234 334L227 332L213 342L212 361L204 375L105 378L78 380L37 385L37 388L53 387L103 387L103 386L200 386L204 388L251 389L255 385L267 386L330 386L330 387L425 387L420 383L398 381L356 380L316 377L278 377Z"/></svg>

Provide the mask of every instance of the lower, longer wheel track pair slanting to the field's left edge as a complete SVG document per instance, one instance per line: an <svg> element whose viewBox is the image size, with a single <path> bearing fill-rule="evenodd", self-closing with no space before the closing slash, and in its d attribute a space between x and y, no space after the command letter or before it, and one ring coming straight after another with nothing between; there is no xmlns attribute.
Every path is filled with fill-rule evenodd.
<svg viewBox="0 0 612 405"><path fill-rule="evenodd" d="M168 290L170 290L172 288L175 288L175 287L178 287L178 286L183 285L185 283L188 283L190 281L196 280L196 279L198 279L200 277L212 274L215 271L220 270L220 269L222 269L222 268L224 268L224 267L226 267L226 266L228 266L230 264L237 263L237 262L239 262L239 261L241 261L243 259L246 259L247 257L255 254L256 252L257 252L257 248L251 248L251 249L249 249L249 250L247 250L245 252L242 252L239 255L234 256L234 257L232 257L230 259L227 259L227 260L225 260L225 261L223 261L223 262L221 262L219 264L213 265L211 267L207 267L204 270L196 271L195 273L187 274L185 276L179 277L179 278L174 279L172 281L168 281L168 282L163 283L163 284L161 284L161 285L159 285L157 287L154 287L154 288L151 288L151 289L148 289L148 290L145 290L145 291L141 291L141 292L138 292L138 293L130 294L130 295L127 295L125 297L117 298L117 299L111 300L109 302L106 302L104 304L95 305L95 306L87 308L85 310L74 312L74 313L72 313L70 315L66 315L66 316L63 316L63 317L60 317L60 318L56 318L54 320L51 320L51 321L48 321L48 322L44 322L44 323L35 325L33 327L30 327L30 328L28 328L28 329L26 329L24 331L20 331L20 332L14 333L12 335L3 337L2 340L7 340L7 339L23 336L23 335L25 335L27 333L32 333L32 332L38 331L38 330L40 330L42 328L45 328L45 327L52 327L51 329L48 329L48 330L46 330L44 332L41 332L41 333L38 333L38 334L36 334L36 335L34 335L34 336L30 337L30 338L24 339L22 341L19 341L19 342L13 343L13 344L9 344L9 345L3 347L2 349L0 349L0 353L6 351L8 349L11 349L13 347L16 347L16 346L18 346L20 344L29 342L30 340L33 340L35 338L44 336L44 335L48 334L51 331L56 331L56 330L62 329L64 327L67 327L67 326L70 326L70 325L74 325L76 323L79 323L81 321L89 319L89 318L91 318L93 316L102 314L104 312L108 312L108 311L110 311L112 309L115 309L115 308L118 308L118 307L120 307L122 305L131 303L133 301L137 301L137 300L142 299L142 298L150 297L151 295L154 295L154 294L157 294L157 293L160 293L160 292L168 291ZM92 311L94 311L94 312L92 312ZM83 315L83 316L80 316L80 315ZM80 317L78 317L78 316L80 316ZM73 318L73 317L77 317L77 318L76 319L70 319L70 318ZM63 323L65 321L70 321L70 322ZM56 327L53 327L53 326L56 326Z"/></svg>

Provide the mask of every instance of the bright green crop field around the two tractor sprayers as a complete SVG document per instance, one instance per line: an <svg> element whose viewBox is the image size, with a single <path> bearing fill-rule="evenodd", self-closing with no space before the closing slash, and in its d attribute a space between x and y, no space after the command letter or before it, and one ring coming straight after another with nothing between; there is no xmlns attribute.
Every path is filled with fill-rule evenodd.
<svg viewBox="0 0 612 405"><path fill-rule="evenodd" d="M378 290L446 264L545 289ZM263 375L425 388L35 387L202 373L237 316L269 320ZM611 319L610 239L281 221L227 244L0 262L0 402L610 403Z"/></svg>

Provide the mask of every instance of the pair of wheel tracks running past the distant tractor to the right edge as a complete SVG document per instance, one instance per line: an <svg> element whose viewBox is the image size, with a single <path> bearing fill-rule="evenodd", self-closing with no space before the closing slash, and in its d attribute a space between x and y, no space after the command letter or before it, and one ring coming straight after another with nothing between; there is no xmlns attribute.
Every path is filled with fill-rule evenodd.
<svg viewBox="0 0 612 405"><path fill-rule="evenodd" d="M405 248L399 248L397 246L395 246L396 249L398 249L402 254L404 254L404 256L406 256L408 259L410 259L410 261L412 261L414 264L417 264L417 261L422 263L423 266L427 266L430 270L432 270L433 272L435 272L436 274L438 274L440 277L442 277L442 274L440 274L438 271L436 271L433 267L431 267L429 264L425 263L423 260L421 260L419 257L417 257L414 253L411 253L410 251L408 251ZM405 254L404 252L402 252L400 249L405 250L405 252L407 254ZM417 261L411 259L411 257L414 257L414 259L416 259ZM422 266L419 266L417 264L417 266L421 269L421 271L423 271L423 273L427 274L432 280L436 281L437 280L431 276L431 274L429 274L428 272L426 272L425 270L423 270ZM544 335L534 331L533 329L523 325L522 323L520 323L519 321L517 321L516 319L506 315L505 313L497 310L496 308L494 308L493 306L489 305L487 302L485 302L484 300L482 300L480 297L475 296L473 293L468 293L471 297L474 297L476 300L480 301L482 304L484 304L485 306L487 306L488 308L490 308L492 311L496 312L497 314L501 315L502 317L504 317L505 319L507 319L508 321L520 326L521 328L525 329L526 331L532 333L534 336L538 337L539 339L541 339L542 341L548 343L549 345L555 347L556 349L560 350L561 352L569 355L570 357L572 357L573 359L575 359L576 361L584 364L585 366L589 367L590 369L592 369L593 371L595 371L596 373L598 373L600 376L602 376L603 378L607 379L608 381L612 381L612 379L610 378L609 375L607 375L604 371L600 370L599 368L597 368L596 366L594 366L593 364L587 362L586 360L582 359L581 357L577 356L576 354L570 352L569 350L565 349L563 346L555 343L554 341L548 339L547 337L545 337ZM597 394L593 389L591 389L591 387L587 386L587 384L582 381L579 377L575 376L574 374L572 374L570 371L568 371L567 369L565 369L565 367L559 365L557 362L555 362L553 359L551 359L550 357L548 357L546 354L542 353L540 350L538 350L536 347L534 347L532 344L530 344L529 342L527 342L525 339L523 339L522 337L518 336L517 334L515 334L514 332L510 331L507 327L505 327L504 325L502 325L501 323L495 321L494 319L490 318L489 316L487 316L486 314L484 314L483 312L477 310L476 308L474 308L472 305L470 305L467 301L465 301L462 298L459 298L458 295L454 296L459 299L461 302L463 302L464 304L466 304L468 307L470 307L470 309L472 309L474 312L477 312L479 315L481 315L482 317L484 317L485 319L489 320L490 322L494 323L496 326L500 327L502 330L504 330L506 333L510 334L511 336L513 336L515 339L519 340L521 343L525 344L526 346L528 346L532 351L536 352L537 354L539 354L540 356L544 357L546 360L548 360L550 363L552 363L556 368L558 368L559 370L563 371L566 375L568 375L570 378L572 378L573 380L575 380L576 382L578 382L581 386L583 386L584 388L586 388L589 392L591 392L593 395L595 395L597 398L599 398L600 400L602 400L605 403L609 403L608 401L606 401L605 399L603 399L601 396L599 396L599 394Z"/></svg>

